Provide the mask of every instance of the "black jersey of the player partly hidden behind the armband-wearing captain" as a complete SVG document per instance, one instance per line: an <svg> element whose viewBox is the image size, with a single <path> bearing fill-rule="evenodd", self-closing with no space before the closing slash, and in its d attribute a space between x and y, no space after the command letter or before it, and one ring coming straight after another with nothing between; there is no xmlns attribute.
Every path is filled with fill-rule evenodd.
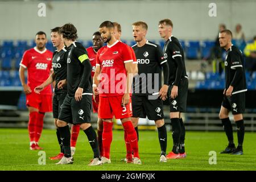
<svg viewBox="0 0 256 182"><path fill-rule="evenodd" d="M68 51L67 47L63 47L59 52L55 51L53 52L52 57L52 68L53 72L55 74L55 93L61 93L61 92L67 92L67 85L63 86L63 89L58 89L57 84L60 80L67 79L67 57L68 57Z"/></svg>

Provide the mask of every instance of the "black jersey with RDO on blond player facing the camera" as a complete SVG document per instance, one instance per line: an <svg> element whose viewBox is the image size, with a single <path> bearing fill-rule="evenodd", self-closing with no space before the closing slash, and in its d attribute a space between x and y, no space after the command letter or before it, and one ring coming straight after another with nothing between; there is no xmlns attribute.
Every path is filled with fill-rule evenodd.
<svg viewBox="0 0 256 182"><path fill-rule="evenodd" d="M138 63L138 75L133 81L133 94L158 94L162 85L161 65L167 62L160 46L147 40L144 46L138 47L135 44L132 48Z"/></svg>

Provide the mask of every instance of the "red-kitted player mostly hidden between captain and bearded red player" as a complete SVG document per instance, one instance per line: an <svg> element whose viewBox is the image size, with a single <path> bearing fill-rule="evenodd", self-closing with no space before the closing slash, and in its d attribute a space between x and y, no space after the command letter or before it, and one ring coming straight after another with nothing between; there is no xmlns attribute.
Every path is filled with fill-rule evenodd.
<svg viewBox="0 0 256 182"><path fill-rule="evenodd" d="M104 42L101 38L100 32L94 32L92 37L93 46L86 48L86 51L88 53L88 57L90 60L90 64L92 65L92 79L95 73L96 68L96 55L98 52L98 49L100 49L102 46L104 46ZM94 96L95 97L95 96ZM92 100L92 106L93 106L93 113L98 113L98 100L99 97L96 96L95 99L93 97ZM100 154L103 156L103 147L102 147L102 132L103 132L103 121L101 118L98 117L98 127L97 127L97 136L98 136L98 148L100 149Z"/></svg>

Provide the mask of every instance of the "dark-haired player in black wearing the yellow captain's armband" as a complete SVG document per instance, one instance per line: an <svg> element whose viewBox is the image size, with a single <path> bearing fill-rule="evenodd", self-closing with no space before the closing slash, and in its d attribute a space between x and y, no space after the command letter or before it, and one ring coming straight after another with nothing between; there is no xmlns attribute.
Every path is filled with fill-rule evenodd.
<svg viewBox="0 0 256 182"><path fill-rule="evenodd" d="M63 141L64 157L57 164L73 163L71 156L70 138L68 123L80 124L82 130L87 135L90 146L94 153L94 159L89 166L101 164L100 151L96 132L90 125L90 110L92 108L92 65L85 48L81 43L76 42L77 30L73 24L64 24L61 27L61 35L67 48L67 84L68 93L65 97L57 125L60 137Z"/></svg>

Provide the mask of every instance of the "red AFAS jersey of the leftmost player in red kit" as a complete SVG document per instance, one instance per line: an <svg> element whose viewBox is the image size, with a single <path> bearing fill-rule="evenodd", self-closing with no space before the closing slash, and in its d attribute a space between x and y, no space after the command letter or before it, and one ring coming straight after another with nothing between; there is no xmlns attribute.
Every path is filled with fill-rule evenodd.
<svg viewBox="0 0 256 182"><path fill-rule="evenodd" d="M27 69L27 84L34 92L34 88L46 81L50 75L52 52L47 49L41 52L36 47L28 49L19 65ZM51 85L44 88L40 94L52 94Z"/></svg>

